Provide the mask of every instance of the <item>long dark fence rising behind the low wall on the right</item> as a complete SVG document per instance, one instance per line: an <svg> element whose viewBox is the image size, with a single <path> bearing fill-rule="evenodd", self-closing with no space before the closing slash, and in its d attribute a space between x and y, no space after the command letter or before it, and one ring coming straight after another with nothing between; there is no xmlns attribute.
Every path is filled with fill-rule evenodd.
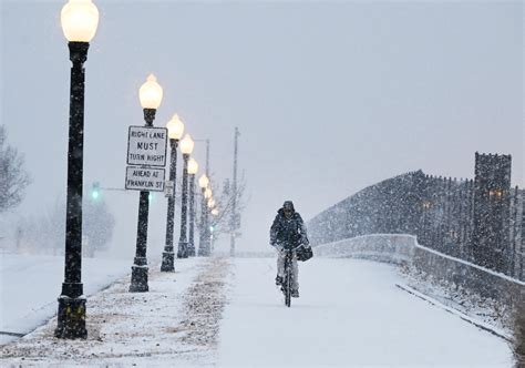
<svg viewBox="0 0 525 368"><path fill-rule="evenodd" d="M485 191L480 182L422 171L382 181L313 217L308 224L311 243L411 234L423 246L523 280L525 193L518 187ZM482 248L482 241L495 245Z"/></svg>

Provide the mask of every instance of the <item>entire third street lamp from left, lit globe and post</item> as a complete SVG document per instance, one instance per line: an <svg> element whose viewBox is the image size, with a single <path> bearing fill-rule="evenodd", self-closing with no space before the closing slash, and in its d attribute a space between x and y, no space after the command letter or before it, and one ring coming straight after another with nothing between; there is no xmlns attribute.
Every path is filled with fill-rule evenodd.
<svg viewBox="0 0 525 368"><path fill-rule="evenodd" d="M173 183L173 193L167 198L167 218L166 218L166 245L162 254L161 272L175 272L175 253L173 252L173 228L175 225L175 188L177 178L177 146L181 136L184 133L184 123L177 114L166 124L167 134L169 136L171 162L169 162L169 181Z"/></svg>

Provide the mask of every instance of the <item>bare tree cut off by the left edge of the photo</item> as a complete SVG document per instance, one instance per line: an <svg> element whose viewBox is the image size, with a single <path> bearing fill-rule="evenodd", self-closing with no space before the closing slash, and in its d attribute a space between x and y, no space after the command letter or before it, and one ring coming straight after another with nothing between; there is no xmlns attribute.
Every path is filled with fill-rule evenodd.
<svg viewBox="0 0 525 368"><path fill-rule="evenodd" d="M23 168L23 156L8 145L6 126L0 125L0 213L22 202L30 178Z"/></svg>

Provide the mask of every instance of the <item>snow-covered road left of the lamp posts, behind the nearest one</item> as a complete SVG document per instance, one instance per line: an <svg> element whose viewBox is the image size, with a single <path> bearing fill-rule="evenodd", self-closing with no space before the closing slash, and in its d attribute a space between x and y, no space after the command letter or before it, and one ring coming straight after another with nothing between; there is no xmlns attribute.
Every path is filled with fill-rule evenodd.
<svg viewBox="0 0 525 368"><path fill-rule="evenodd" d="M131 272L133 259L83 258L84 294L91 295ZM0 331L27 334L56 313L64 257L0 254ZM87 305L89 307L89 305ZM0 345L13 340L0 334Z"/></svg>

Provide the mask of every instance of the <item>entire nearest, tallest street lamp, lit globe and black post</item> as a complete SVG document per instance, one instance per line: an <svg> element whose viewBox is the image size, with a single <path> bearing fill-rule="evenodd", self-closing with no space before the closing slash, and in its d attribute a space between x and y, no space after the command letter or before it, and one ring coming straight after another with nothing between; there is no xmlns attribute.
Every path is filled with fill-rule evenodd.
<svg viewBox="0 0 525 368"><path fill-rule="evenodd" d="M70 0L61 12L70 49L71 93L68 146L68 202L65 215L64 282L59 297L59 338L86 338L85 297L82 285L82 188L84 153L84 62L99 25L91 0Z"/></svg>

